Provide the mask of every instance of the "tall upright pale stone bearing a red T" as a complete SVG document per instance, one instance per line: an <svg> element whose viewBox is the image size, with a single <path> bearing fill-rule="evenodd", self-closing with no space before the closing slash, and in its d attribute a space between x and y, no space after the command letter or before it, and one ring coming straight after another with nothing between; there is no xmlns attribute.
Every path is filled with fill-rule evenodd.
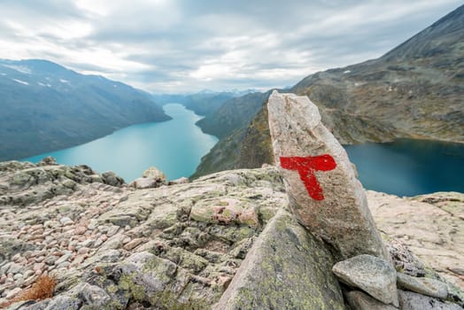
<svg viewBox="0 0 464 310"><path fill-rule="evenodd" d="M373 254L390 260L352 163L308 97L274 91L267 104L275 160L302 223L331 244L336 259Z"/></svg>

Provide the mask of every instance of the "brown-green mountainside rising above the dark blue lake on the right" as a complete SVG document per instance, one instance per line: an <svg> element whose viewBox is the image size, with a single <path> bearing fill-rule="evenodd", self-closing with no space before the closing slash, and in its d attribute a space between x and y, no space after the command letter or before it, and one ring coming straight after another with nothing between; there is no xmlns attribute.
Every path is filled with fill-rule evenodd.
<svg viewBox="0 0 464 310"><path fill-rule="evenodd" d="M381 58L312 74L291 90L319 106L342 143L464 143L463 42L464 5Z"/></svg>

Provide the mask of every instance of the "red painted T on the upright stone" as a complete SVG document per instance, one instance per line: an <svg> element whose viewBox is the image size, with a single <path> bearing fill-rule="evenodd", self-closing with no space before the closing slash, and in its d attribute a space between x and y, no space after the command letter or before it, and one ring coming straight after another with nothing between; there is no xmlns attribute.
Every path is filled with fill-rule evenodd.
<svg viewBox="0 0 464 310"><path fill-rule="evenodd" d="M314 171L329 171L336 168L336 162L329 154L308 157L281 157L281 166L284 169L297 170L299 178L314 200L324 200L321 185L314 175Z"/></svg>

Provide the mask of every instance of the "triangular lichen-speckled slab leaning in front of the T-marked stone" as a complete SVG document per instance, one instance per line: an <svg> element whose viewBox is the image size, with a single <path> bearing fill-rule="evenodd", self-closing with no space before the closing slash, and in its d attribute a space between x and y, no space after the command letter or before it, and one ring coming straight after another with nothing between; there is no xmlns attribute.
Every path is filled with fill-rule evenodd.
<svg viewBox="0 0 464 310"><path fill-rule="evenodd" d="M344 309L324 245L280 210L213 309Z"/></svg>

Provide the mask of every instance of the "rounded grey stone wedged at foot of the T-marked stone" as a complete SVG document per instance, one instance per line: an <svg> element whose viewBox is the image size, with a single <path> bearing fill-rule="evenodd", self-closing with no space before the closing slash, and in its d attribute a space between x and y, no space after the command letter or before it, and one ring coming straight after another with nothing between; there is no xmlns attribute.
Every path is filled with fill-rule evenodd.
<svg viewBox="0 0 464 310"><path fill-rule="evenodd" d="M386 305L398 306L397 272L390 262L362 254L337 262L332 271L343 283L366 291Z"/></svg>

